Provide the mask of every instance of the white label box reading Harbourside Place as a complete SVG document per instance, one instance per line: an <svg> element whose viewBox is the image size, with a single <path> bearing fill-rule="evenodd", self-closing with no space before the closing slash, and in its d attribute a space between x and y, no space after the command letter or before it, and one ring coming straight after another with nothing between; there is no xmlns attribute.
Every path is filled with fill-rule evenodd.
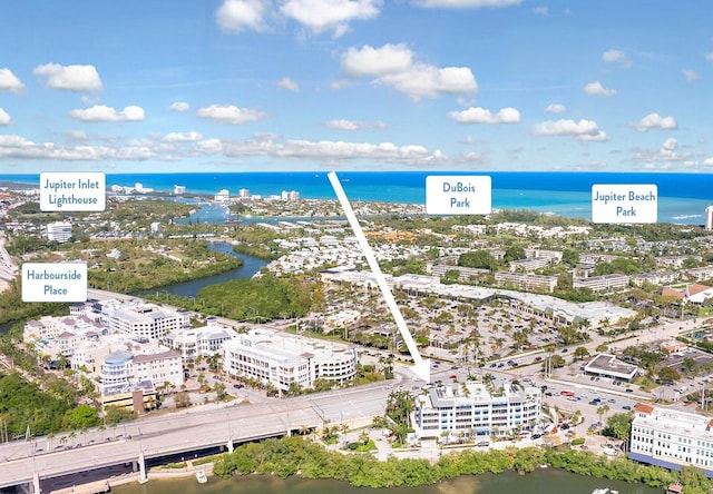
<svg viewBox="0 0 713 494"><path fill-rule="evenodd" d="M87 302L86 263L26 263L22 302Z"/></svg>

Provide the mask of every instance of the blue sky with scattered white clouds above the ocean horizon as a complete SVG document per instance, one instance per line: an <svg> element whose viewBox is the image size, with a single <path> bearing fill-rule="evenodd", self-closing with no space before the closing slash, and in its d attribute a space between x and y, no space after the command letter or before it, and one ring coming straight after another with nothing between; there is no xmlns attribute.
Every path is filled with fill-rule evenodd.
<svg viewBox="0 0 713 494"><path fill-rule="evenodd" d="M713 2L0 3L0 172L713 171Z"/></svg>

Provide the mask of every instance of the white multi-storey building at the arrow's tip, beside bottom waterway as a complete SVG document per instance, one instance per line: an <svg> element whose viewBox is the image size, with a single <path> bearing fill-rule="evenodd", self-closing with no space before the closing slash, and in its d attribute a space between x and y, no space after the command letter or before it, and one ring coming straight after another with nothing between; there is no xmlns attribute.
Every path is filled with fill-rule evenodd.
<svg viewBox="0 0 713 494"><path fill-rule="evenodd" d="M420 438L507 435L540 425L543 395L538 387L506 382L492 392L484 383L432 387L416 398L413 427Z"/></svg>

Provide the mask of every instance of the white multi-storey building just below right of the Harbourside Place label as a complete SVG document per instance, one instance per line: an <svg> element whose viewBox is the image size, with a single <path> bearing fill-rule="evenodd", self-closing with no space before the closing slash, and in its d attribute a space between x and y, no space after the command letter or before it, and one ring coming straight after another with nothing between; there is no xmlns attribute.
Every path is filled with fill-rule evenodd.
<svg viewBox="0 0 713 494"><path fill-rule="evenodd" d="M111 332L153 339L162 338L191 324L189 315L185 310L170 310L143 300L107 300L101 305L101 320Z"/></svg>

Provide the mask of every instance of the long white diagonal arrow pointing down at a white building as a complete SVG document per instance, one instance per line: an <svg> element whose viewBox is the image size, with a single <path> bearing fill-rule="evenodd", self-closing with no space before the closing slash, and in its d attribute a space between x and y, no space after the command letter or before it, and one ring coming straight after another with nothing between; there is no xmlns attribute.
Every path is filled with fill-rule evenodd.
<svg viewBox="0 0 713 494"><path fill-rule="evenodd" d="M403 338L403 343L406 343L406 346L409 349L409 353L411 354L411 358L413 358L413 363L416 364L413 366L413 373L421 381L429 383L431 379L430 362L428 359L424 360L423 358L421 358L421 354L419 354L419 349L416 346L413 336L411 336L411 332L409 332L409 328L406 325L406 319L401 315L401 310L397 305L397 300L393 298L393 294L391 293L391 289L389 289L389 285L387 284L387 278L384 278L383 273L379 267L377 257L374 256L373 250L369 246L369 243L367 241L367 237L364 237L364 233L361 229L361 225L359 225L359 220L354 215L354 210L352 209L352 206L349 202L349 199L346 198L346 194L344 194L342 184L339 181L339 177L336 177L336 174L334 171L330 171L326 176L329 177L330 182L332 184L332 188L336 194L336 198L342 205L342 209L344 209L344 215L346 216L346 219L349 220L349 224L351 225L352 230L354 230L354 236L359 241L361 251L364 254L364 257L367 258L367 263L369 263L371 273L374 275L374 278L377 278L377 284L379 285L379 289L381 289L381 294L383 295L383 298L387 302L387 307L389 307L389 310L393 316L393 320L397 323L397 327L399 328L399 332L401 332L401 337Z"/></svg>

